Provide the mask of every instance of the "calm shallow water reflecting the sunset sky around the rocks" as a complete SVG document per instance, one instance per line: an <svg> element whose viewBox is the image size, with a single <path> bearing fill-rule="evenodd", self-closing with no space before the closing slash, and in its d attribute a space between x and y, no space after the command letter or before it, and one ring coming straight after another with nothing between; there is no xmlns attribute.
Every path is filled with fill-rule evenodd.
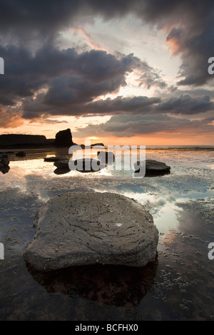
<svg viewBox="0 0 214 335"><path fill-rule="evenodd" d="M1 320L214 319L214 149L149 148L146 158L170 165L170 175L133 178L103 169L57 175L46 155L25 150L0 172ZM126 155L127 153L125 153ZM93 266L41 274L22 254L34 237L33 220L50 197L73 191L117 192L146 205L159 230L156 262L142 269Z"/></svg>

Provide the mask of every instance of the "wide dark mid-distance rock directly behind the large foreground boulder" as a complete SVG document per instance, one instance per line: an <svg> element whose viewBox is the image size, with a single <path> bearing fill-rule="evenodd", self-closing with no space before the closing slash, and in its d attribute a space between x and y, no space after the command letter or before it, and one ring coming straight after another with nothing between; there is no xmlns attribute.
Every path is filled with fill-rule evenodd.
<svg viewBox="0 0 214 335"><path fill-rule="evenodd" d="M71 166L71 163L73 166ZM96 158L79 158L73 160L71 163L69 164L70 170L76 170L78 172L97 172L106 168L106 163L101 162L101 160L96 160Z"/></svg>

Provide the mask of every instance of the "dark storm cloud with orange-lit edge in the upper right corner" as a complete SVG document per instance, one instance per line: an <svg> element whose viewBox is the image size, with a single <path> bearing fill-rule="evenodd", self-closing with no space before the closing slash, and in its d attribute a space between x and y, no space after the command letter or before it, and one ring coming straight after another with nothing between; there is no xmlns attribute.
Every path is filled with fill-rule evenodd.
<svg viewBox="0 0 214 335"><path fill-rule="evenodd" d="M212 0L143 1L143 18L168 31L166 41L181 57L178 85L199 86L212 80L208 58L214 55Z"/></svg>

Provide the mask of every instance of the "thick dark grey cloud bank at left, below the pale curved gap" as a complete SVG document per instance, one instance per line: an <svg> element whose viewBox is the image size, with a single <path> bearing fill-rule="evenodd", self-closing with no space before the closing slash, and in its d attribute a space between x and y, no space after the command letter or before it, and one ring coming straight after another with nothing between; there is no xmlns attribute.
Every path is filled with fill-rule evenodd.
<svg viewBox="0 0 214 335"><path fill-rule="evenodd" d="M0 54L6 59L6 74L0 81L0 103L14 105L21 101L24 118L44 113L94 113L91 110L94 108L86 107L86 103L126 86L126 76L133 71L138 73L139 85L165 86L158 73L133 54L115 56L98 50L77 53L74 48L59 50L51 44L40 48L35 55L17 46L1 46ZM144 100L143 104L148 105L146 97ZM103 113L111 110L108 108Z"/></svg>

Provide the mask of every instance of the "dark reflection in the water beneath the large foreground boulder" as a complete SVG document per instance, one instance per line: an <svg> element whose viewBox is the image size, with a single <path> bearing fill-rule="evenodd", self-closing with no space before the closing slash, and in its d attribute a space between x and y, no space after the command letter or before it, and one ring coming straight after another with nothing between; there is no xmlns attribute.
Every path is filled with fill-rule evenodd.
<svg viewBox="0 0 214 335"><path fill-rule="evenodd" d="M155 282L158 255L146 267L96 264L51 272L38 272L29 264L27 268L49 293L77 294L98 303L131 308Z"/></svg>

